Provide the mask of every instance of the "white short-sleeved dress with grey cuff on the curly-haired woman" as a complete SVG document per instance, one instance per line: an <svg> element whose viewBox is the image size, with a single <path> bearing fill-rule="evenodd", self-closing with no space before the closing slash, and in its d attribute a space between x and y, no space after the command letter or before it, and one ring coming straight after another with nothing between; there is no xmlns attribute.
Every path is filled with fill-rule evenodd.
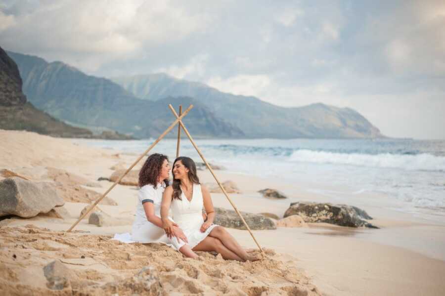
<svg viewBox="0 0 445 296"><path fill-rule="evenodd" d="M164 190L164 182L162 184L158 183L157 188L148 184L139 189L131 240L139 243L164 243L179 250L185 243L176 237L169 239L164 229L148 221L145 215L143 204L153 203L155 215L161 217L161 202Z"/></svg>

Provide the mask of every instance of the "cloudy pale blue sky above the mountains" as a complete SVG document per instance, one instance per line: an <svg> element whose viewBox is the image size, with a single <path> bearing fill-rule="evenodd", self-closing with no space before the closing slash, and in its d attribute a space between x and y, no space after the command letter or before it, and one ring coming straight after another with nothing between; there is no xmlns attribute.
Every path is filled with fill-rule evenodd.
<svg viewBox="0 0 445 296"><path fill-rule="evenodd" d="M164 72L445 139L444 0L2 0L0 46L90 75Z"/></svg>

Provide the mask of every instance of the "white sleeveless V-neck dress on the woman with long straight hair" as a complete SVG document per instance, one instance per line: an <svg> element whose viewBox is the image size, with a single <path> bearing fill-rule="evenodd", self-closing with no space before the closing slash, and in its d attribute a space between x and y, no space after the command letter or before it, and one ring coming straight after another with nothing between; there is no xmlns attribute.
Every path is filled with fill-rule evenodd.
<svg viewBox="0 0 445 296"><path fill-rule="evenodd" d="M175 222L184 232L188 240L190 248L194 248L218 225L212 224L205 232L201 232L200 228L204 223L202 217L202 207L204 205L202 199L201 185L193 184L193 195L191 201L181 194L181 200L172 200L172 214Z"/></svg>

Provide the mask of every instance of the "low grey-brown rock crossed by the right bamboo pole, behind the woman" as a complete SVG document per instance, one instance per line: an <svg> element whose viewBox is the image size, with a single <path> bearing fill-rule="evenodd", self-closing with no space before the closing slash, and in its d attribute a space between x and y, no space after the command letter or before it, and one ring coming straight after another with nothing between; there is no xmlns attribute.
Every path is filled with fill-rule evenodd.
<svg viewBox="0 0 445 296"><path fill-rule="evenodd" d="M215 208L215 213L215 224L229 228L247 230L243 221L235 211ZM261 214L241 212L241 215L251 230L276 229L275 223L270 218Z"/></svg>

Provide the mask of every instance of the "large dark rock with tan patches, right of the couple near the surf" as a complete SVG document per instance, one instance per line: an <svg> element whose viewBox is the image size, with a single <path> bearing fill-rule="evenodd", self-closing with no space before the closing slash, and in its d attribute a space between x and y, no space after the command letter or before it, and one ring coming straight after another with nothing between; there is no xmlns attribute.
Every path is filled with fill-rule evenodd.
<svg viewBox="0 0 445 296"><path fill-rule="evenodd" d="M369 217L365 211L347 205L317 204L311 202L291 203L289 209L284 213L284 217L286 218L291 215L299 215L305 222L324 222L348 227L364 226L378 228L361 219L363 217Z"/></svg>

